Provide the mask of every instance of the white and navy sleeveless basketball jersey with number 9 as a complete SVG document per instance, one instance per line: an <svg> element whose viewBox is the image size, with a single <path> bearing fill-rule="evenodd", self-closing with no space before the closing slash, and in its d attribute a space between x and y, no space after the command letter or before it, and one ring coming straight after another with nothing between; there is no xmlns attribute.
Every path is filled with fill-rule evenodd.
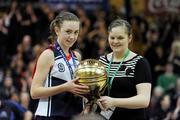
<svg viewBox="0 0 180 120"><path fill-rule="evenodd" d="M51 50L54 52L54 65L44 82L44 87L61 85L73 79L76 65L79 63L74 53L71 52L71 58L65 60L66 56L58 49L59 44L55 43ZM71 66L67 65L67 62ZM63 92L45 99L40 99L36 110L36 116L63 116L72 117L82 111L82 98L69 92Z"/></svg>

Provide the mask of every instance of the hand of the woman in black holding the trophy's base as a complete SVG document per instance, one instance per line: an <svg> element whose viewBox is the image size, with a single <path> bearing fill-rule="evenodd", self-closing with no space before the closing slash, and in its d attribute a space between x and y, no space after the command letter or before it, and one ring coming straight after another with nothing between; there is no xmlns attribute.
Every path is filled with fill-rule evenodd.
<svg viewBox="0 0 180 120"><path fill-rule="evenodd" d="M107 110L111 107L114 107L113 98L108 96L102 96L100 99L97 100L97 104L102 110Z"/></svg>

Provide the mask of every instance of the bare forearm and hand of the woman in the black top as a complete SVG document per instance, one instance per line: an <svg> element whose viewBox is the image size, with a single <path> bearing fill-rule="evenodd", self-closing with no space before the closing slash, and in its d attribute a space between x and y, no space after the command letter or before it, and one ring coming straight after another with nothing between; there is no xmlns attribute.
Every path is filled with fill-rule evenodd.
<svg viewBox="0 0 180 120"><path fill-rule="evenodd" d="M136 85L137 95L129 98L111 98L103 96L98 101L104 109L110 107L121 107L128 109L138 109L148 107L151 94L151 84L141 83Z"/></svg>

